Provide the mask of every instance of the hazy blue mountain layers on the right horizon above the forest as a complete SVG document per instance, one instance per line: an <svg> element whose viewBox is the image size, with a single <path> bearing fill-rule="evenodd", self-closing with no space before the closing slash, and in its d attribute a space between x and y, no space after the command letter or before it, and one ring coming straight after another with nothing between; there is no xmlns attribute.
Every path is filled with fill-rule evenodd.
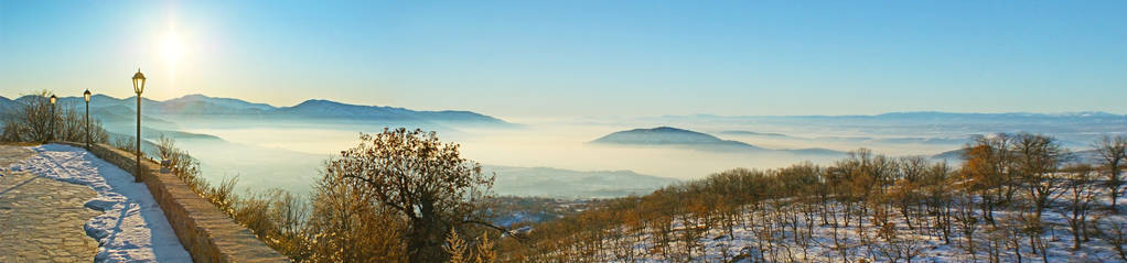
<svg viewBox="0 0 1127 263"><path fill-rule="evenodd" d="M1057 114L974 114L912 111L845 116L662 116L640 118L641 124L678 124L715 127L715 130L782 133L809 142L917 144L960 146L975 135L997 133L1046 134L1071 148L1084 148L1101 134L1122 134L1127 115L1102 111ZM752 138L754 135L737 135ZM795 136L795 135L805 135ZM757 136L767 138L766 136ZM789 139L787 137L775 137Z"/></svg>

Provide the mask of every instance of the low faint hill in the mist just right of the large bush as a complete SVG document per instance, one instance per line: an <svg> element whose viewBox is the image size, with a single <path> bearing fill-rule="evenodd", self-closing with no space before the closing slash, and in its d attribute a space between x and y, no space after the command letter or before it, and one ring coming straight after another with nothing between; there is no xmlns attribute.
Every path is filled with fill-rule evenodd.
<svg viewBox="0 0 1127 263"><path fill-rule="evenodd" d="M550 198L615 198L647 194L675 179L631 171L571 171L550 167L485 166L496 174L494 191L502 196Z"/></svg>

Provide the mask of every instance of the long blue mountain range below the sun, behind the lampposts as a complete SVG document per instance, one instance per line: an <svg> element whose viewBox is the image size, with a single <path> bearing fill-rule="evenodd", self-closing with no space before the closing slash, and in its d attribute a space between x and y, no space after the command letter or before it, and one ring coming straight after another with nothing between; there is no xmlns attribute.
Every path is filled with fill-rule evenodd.
<svg viewBox="0 0 1127 263"><path fill-rule="evenodd" d="M17 99L17 101L30 99L34 99L34 97L25 96ZM7 99L0 100L0 103L8 103L6 101ZM81 108L86 102L81 97L64 97L59 99L59 103L65 107ZM329 100L308 100L293 107L274 107L239 99L189 94L166 101L142 98L141 107L147 118L150 116L199 115L511 125L504 120L472 111L417 111L393 107L348 105ZM135 115L135 110L136 97L117 99L104 94L95 94L90 99L90 112L95 116L105 117L107 120L104 121L126 119L126 117L135 119L136 117L128 117Z"/></svg>

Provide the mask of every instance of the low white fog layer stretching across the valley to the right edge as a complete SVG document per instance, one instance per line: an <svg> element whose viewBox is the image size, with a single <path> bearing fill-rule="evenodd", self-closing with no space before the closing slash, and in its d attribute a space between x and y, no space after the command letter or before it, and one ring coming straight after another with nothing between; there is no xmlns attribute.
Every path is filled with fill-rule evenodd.
<svg viewBox="0 0 1127 263"><path fill-rule="evenodd" d="M307 193L319 176L322 162L340 151L356 146L361 133L379 133L384 127L435 130L443 142L461 145L462 156L498 172L498 189L521 194L554 190L565 185L539 185L544 176L573 176L570 188L585 188L583 176L618 176L611 171L632 171L642 175L693 180L735 167L774 169L799 162L826 164L842 155L810 155L771 149L826 148L842 153L870 148L891 156L923 155L961 147L971 135L1001 132L1045 133L1062 138L1072 148L1084 147L1095 136L1122 130L1122 124L1101 125L1023 125L1013 121L915 121L832 118L577 118L517 120L517 126L474 126L435 123L379 123L323 119L221 119L166 116L171 125L165 130L212 135L178 138L178 145L202 163L204 178L218 183L239 176L239 187L255 191L281 188ZM1019 121L1020 123L1020 121ZM767 148L763 152L717 152L667 146L604 145L589 142L611 133L635 128L672 126L738 140ZM536 171L512 167L550 167ZM600 173L603 171L603 173ZM522 178L523 176L523 178ZM530 179L540 176L540 179ZM557 178L550 178L557 179ZM561 179L566 180L566 179ZM656 181L655 181L656 180ZM618 178L604 183L623 189L653 189L655 178L631 185L639 178ZM560 181L543 181L560 183ZM673 182L673 181L668 181ZM503 185L509 183L508 185ZM545 183L541 183L545 184ZM517 187L518 185L518 187ZM534 187L529 187L534 185ZM589 187L589 185L587 185ZM605 185L604 185L605 187ZM524 188L524 189L516 189ZM527 189L533 188L533 189ZM604 191L606 189L600 189ZM507 192L498 192L507 194Z"/></svg>

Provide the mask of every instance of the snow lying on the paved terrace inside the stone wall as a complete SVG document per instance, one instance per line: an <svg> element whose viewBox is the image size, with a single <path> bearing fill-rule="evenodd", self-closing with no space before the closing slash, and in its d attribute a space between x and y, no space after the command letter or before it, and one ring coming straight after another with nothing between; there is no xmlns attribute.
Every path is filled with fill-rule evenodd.
<svg viewBox="0 0 1127 263"><path fill-rule="evenodd" d="M90 187L98 193L86 207L105 214L86 221L86 234L98 241L95 262L192 262L165 212L133 175L77 147L42 145L12 171Z"/></svg>

